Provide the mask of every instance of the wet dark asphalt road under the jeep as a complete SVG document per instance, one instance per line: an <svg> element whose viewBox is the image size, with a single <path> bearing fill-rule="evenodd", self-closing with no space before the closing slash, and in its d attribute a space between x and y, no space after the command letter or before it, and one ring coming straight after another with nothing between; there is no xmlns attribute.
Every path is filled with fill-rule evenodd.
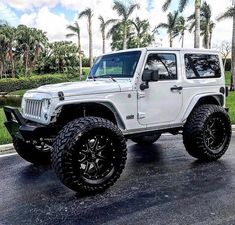
<svg viewBox="0 0 235 225"><path fill-rule="evenodd" d="M50 168L0 158L0 224L235 224L235 136L213 163L191 158L181 136L128 146L119 181L89 197L64 187Z"/></svg>

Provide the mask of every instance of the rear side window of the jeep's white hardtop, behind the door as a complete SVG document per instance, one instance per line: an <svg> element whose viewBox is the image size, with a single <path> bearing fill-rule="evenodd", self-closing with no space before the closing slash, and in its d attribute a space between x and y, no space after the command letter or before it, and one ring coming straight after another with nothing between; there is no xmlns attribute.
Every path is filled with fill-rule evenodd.
<svg viewBox="0 0 235 225"><path fill-rule="evenodd" d="M184 59L188 79L221 77L218 55L185 54Z"/></svg>

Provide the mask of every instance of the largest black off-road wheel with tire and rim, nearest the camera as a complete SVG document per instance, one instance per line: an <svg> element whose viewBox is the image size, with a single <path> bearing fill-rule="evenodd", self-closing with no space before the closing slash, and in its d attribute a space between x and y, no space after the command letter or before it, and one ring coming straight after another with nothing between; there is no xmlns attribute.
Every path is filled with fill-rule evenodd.
<svg viewBox="0 0 235 225"><path fill-rule="evenodd" d="M90 139L93 137L96 141L95 147L93 146L91 150ZM97 140L106 143L104 145L106 147L98 147ZM88 160L92 159L88 159L88 153L98 151L99 148L105 151L106 156L102 157L106 159L101 161L103 163L101 167L97 164L99 161L93 159L91 168L91 162ZM103 118L84 117L69 122L58 134L53 145L52 167L61 182L68 188L83 194L93 194L104 191L117 181L124 169L126 157L126 141L116 125ZM107 160L107 158L112 159ZM104 165L107 165L107 170ZM96 168L98 168L97 171ZM107 175L100 175L98 172L101 170ZM97 177L93 178L92 175L92 178L89 178L90 174L95 172L98 173Z"/></svg>

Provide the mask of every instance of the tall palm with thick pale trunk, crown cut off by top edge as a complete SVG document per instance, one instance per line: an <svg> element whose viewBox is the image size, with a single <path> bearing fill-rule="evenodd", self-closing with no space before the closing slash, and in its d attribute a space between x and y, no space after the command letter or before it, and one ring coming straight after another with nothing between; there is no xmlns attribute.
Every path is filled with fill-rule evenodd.
<svg viewBox="0 0 235 225"><path fill-rule="evenodd" d="M201 0L194 0L194 7L195 7L195 32L194 32L194 48L200 48L200 9L201 9ZM166 11L170 4L172 3L172 0L166 0L164 5L162 6L162 9ZM179 11L182 12L187 4L189 3L189 0L179 0Z"/></svg>

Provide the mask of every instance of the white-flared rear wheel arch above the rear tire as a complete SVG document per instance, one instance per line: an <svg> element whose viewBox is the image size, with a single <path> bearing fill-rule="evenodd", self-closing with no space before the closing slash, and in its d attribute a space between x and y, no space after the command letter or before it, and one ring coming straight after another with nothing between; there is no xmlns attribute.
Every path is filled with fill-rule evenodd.
<svg viewBox="0 0 235 225"><path fill-rule="evenodd" d="M213 104L213 105L224 106L224 102L225 101L223 94L203 94L203 95L194 96L191 99L191 102L184 113L183 122L187 120L191 112L199 105Z"/></svg>

